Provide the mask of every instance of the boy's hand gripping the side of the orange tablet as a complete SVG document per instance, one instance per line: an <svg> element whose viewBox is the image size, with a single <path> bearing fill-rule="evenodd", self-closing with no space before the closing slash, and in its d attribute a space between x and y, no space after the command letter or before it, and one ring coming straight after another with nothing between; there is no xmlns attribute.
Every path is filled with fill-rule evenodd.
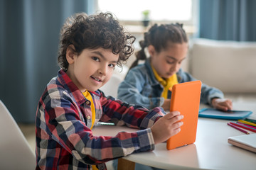
<svg viewBox="0 0 256 170"><path fill-rule="evenodd" d="M157 120L156 123L151 127L155 144L164 142L168 140L169 137L180 132L183 122L177 121L181 119L183 119L183 115L181 115L181 113L178 111L173 111Z"/></svg>

